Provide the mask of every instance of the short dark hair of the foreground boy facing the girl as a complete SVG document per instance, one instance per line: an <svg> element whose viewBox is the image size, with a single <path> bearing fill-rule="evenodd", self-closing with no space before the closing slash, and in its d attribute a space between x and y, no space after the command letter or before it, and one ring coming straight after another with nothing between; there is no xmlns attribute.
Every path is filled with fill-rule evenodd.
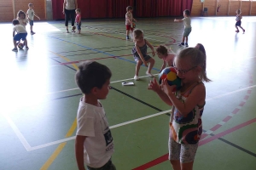
<svg viewBox="0 0 256 170"><path fill-rule="evenodd" d="M90 94L92 88L102 88L111 76L112 73L106 65L96 61L85 61L79 65L75 80L83 94Z"/></svg>

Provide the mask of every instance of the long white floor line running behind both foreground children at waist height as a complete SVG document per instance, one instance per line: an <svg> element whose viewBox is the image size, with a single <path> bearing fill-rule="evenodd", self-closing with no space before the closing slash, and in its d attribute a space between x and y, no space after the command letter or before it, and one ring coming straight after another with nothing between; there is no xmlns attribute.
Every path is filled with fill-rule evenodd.
<svg viewBox="0 0 256 170"><path fill-rule="evenodd" d="M241 88L241 89L239 89L239 90L236 90L236 91L233 91L233 92L230 92L230 93L227 93L227 94L222 94L222 95L219 95L219 96L216 96L216 97L213 97L213 98L206 99L206 101L210 101L210 100L213 100L213 99L218 99L218 98L221 98L221 97L230 95L230 94L235 94L235 93L237 93L237 92L241 92L241 91L243 91L243 90L247 90L247 89L249 89L249 88L255 88L255 87L256 87L256 85L250 86L250 87L247 87L247 88ZM145 120L145 119L148 119L148 118L151 118L151 117L154 117L154 116L164 115L164 114L166 114L166 113L170 113L171 111L172 111L172 110L161 111L161 112L155 113L155 114L153 114L153 115L143 116L143 117L140 117L140 118L137 118L137 119L128 121L128 122L122 122L122 123L113 125L113 126L111 126L111 127L109 127L109 128L110 128L110 129L113 129L113 128L115 128L115 127L122 127L122 126L125 126L125 125L128 125L128 124L134 123L134 122L143 121L143 120ZM48 146L54 145L54 144L61 144L61 143L63 143L63 142L67 142L67 141L73 140L73 139L75 139L75 138L76 138L76 137L73 136L73 137L69 137L69 138L66 138L66 139L56 140L56 141L54 141L54 142L50 142L50 143L47 143L47 144L41 144L41 145L32 147L31 150L42 149L42 148L44 148L44 147L48 147Z"/></svg>

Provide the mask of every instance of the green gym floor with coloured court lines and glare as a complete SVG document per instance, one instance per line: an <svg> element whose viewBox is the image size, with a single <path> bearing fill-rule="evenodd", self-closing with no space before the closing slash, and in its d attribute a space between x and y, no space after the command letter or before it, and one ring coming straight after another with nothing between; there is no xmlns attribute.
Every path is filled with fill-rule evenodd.
<svg viewBox="0 0 256 170"><path fill-rule="evenodd" d="M189 47L207 51L207 105L195 170L256 169L256 17L192 17ZM182 17L180 17L182 19ZM137 19L154 45L180 48L183 23L174 18ZM70 24L70 23L69 23ZM82 96L74 82L79 63L93 59L113 72L102 100L113 133L113 164L119 170L172 169L167 160L171 108L147 89L142 67L134 81L134 42L125 40L125 20L83 20L81 34L66 33L64 21L35 22L29 50L11 51L12 26L1 23L1 170L78 169L74 155L76 115ZM29 26L26 26L29 31ZM6 39L5 39L6 38ZM150 48L148 48L150 52ZM157 78L162 64L154 57ZM134 82L135 86L122 86Z"/></svg>

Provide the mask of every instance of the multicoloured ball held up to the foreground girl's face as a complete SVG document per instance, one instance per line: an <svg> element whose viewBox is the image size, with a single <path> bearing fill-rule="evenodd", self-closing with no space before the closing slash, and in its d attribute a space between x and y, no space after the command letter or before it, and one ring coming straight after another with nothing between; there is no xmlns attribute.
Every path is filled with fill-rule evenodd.
<svg viewBox="0 0 256 170"><path fill-rule="evenodd" d="M177 77L177 72L175 71L174 67L166 67L163 71L160 72L159 83L161 83L164 79L167 79L167 82L170 86L176 85L176 88L173 89L173 92L181 88L181 79Z"/></svg>

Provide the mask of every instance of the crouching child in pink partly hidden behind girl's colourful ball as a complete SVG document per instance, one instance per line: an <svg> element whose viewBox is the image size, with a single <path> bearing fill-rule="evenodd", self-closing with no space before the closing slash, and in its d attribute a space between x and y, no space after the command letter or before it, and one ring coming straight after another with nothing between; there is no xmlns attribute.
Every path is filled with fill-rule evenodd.
<svg viewBox="0 0 256 170"><path fill-rule="evenodd" d="M164 45L160 45L156 48L156 54L160 59L163 59L163 65L160 69L160 72L166 68L166 63L168 66L173 66L173 59L175 54L168 53L168 49Z"/></svg>

